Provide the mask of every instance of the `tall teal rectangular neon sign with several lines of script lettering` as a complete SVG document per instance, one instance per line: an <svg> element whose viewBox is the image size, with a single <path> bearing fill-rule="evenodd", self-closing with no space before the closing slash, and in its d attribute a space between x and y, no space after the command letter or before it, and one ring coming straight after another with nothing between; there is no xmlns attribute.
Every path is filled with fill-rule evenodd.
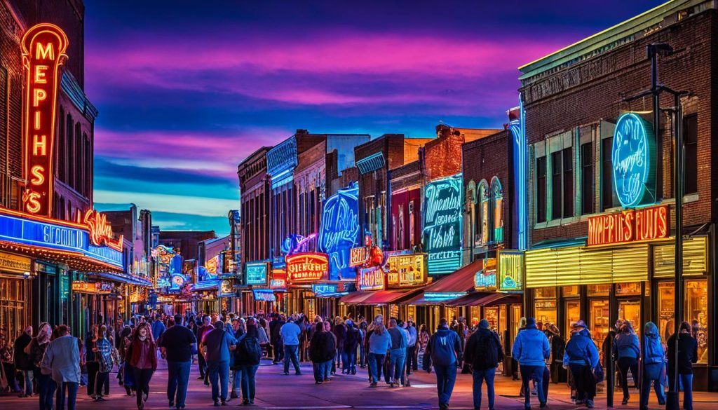
<svg viewBox="0 0 718 410"><path fill-rule="evenodd" d="M429 274L450 274L461 267L462 174L429 182L424 189L424 251Z"/></svg>

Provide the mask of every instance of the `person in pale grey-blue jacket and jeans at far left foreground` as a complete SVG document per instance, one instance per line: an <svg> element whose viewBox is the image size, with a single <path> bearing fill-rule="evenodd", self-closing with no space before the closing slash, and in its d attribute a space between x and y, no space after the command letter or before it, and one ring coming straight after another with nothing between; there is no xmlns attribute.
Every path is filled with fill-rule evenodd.
<svg viewBox="0 0 718 410"><path fill-rule="evenodd" d="M75 410L75 400L80 386L80 347L78 338L70 335L66 325L57 327L57 338L45 350L40 368L42 373L52 375L57 386L55 409Z"/></svg>

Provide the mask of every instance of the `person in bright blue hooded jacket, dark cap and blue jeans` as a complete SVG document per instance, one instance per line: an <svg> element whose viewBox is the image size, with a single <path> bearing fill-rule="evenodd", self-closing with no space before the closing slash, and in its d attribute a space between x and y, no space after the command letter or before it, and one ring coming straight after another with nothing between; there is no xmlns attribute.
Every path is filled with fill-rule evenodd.
<svg viewBox="0 0 718 410"><path fill-rule="evenodd" d="M536 380L536 393L541 408L546 407L543 379L546 362L551 357L549 338L544 332L536 328L536 319L526 319L526 328L518 332L513 340L513 357L518 361L519 371L523 383L523 406L531 409L531 392L528 390L529 381Z"/></svg>

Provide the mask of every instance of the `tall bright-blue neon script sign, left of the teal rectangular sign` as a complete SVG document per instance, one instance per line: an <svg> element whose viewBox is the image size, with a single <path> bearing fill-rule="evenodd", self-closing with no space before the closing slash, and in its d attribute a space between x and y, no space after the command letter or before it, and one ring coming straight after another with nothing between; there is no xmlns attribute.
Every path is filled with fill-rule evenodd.
<svg viewBox="0 0 718 410"><path fill-rule="evenodd" d="M350 253L359 243L359 184L352 182L324 205L319 251L329 255L329 279L355 279Z"/></svg>

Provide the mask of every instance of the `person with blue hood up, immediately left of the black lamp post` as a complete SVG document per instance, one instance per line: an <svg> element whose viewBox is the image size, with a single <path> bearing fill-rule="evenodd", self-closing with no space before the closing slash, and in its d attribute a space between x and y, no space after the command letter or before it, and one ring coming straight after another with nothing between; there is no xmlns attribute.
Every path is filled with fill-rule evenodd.
<svg viewBox="0 0 718 410"><path fill-rule="evenodd" d="M661 375L663 374L666 352L663 351L661 335L658 334L658 327L653 322L648 322L643 327L643 338L645 341L645 352L643 353L643 378L641 378L641 401L640 409L648 409L648 396L651 394L651 382L658 397L658 404L666 404L666 396L663 393Z"/></svg>

